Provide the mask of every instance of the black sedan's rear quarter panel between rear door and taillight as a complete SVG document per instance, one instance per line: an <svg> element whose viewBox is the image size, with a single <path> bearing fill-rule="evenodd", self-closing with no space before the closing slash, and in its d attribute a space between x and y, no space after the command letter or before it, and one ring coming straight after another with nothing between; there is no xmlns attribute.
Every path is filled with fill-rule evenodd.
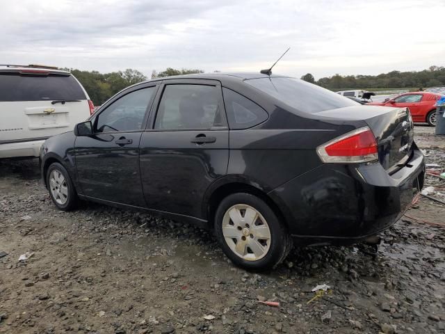
<svg viewBox="0 0 445 334"><path fill-rule="evenodd" d="M246 84L226 87L259 104L269 115L268 120L256 127L229 131L227 174L248 177L264 191L271 191L320 166L321 160L316 154L318 145L366 125L358 118L344 122L291 111L280 100Z"/></svg>

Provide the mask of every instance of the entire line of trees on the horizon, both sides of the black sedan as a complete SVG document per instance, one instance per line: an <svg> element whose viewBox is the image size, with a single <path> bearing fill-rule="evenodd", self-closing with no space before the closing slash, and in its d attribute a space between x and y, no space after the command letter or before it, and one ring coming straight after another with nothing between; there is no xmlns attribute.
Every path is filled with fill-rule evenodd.
<svg viewBox="0 0 445 334"><path fill-rule="evenodd" d="M131 68L111 73L99 73L97 71L82 71L63 68L72 72L90 95L90 99L96 106L103 104L108 98L118 93L127 86L137 84L148 78L142 72ZM170 77L172 75L203 73L203 70L182 68L177 70L168 67L162 72L152 72L151 78ZM218 71L216 71L218 72ZM392 71L378 75L340 75L323 77L315 80L314 76L307 73L302 80L312 84L328 88L330 90L344 89L372 89L372 88L426 88L445 86L445 67L430 66L428 70L419 72Z"/></svg>

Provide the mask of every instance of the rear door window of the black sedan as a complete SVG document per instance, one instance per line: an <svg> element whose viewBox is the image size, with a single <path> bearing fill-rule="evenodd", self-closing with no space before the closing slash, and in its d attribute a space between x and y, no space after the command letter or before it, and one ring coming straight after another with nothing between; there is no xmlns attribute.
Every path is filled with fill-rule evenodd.
<svg viewBox="0 0 445 334"><path fill-rule="evenodd" d="M155 129L210 129L222 126L216 86L167 85Z"/></svg>

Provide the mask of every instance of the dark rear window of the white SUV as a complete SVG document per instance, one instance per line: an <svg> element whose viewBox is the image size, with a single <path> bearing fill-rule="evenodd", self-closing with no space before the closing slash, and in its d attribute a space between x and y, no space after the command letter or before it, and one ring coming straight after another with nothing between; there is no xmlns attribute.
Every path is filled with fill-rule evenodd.
<svg viewBox="0 0 445 334"><path fill-rule="evenodd" d="M86 100L71 75L0 73L0 102Z"/></svg>

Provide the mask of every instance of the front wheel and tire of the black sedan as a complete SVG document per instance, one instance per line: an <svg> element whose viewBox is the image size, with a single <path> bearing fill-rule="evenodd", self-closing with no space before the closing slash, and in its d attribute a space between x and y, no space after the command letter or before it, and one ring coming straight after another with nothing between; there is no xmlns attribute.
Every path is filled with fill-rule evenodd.
<svg viewBox="0 0 445 334"><path fill-rule="evenodd" d="M67 170L55 162L47 170L47 187L54 205L62 211L70 211L78 205L76 189Z"/></svg>

